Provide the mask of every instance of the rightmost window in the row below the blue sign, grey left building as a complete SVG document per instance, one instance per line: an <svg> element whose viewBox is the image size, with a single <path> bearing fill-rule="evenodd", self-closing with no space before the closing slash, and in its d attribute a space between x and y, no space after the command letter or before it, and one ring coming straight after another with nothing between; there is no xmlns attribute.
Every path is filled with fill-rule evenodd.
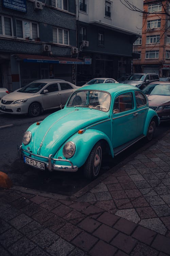
<svg viewBox="0 0 170 256"><path fill-rule="evenodd" d="M69 31L62 28L53 28L53 43L69 45Z"/></svg>

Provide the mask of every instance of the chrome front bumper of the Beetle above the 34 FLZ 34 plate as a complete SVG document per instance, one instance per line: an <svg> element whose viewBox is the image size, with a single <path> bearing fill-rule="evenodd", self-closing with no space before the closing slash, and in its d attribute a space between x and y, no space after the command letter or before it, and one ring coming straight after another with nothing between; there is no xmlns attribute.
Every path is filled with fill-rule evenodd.
<svg viewBox="0 0 170 256"><path fill-rule="evenodd" d="M48 162L44 162L44 161L42 161L42 162L44 162L46 168L49 171L77 172L77 170L78 170L78 167L77 166L73 166L73 164L72 164L72 162L70 160L52 158L52 154L50 154L48 157L36 155L36 154L31 153L30 151L22 149L22 145L18 146L18 152L19 152L20 159L22 159L22 156L24 156L24 154L22 152L28 153L29 154L29 156L28 156L29 158L31 156L37 156L37 157L41 157L41 158L44 158L44 159L48 159ZM25 156L27 157L27 155L25 155ZM31 158L31 159L37 160L35 158ZM66 166L66 165L55 165L55 164L52 164L52 161L68 162L68 163L70 163L70 165L69 166Z"/></svg>

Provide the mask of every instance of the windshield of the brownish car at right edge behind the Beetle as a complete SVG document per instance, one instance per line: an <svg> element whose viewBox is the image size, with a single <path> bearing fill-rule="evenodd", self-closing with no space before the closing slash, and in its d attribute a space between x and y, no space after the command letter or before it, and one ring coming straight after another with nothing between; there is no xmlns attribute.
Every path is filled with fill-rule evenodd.
<svg viewBox="0 0 170 256"><path fill-rule="evenodd" d="M170 84L149 84L142 91L149 95L170 96Z"/></svg>

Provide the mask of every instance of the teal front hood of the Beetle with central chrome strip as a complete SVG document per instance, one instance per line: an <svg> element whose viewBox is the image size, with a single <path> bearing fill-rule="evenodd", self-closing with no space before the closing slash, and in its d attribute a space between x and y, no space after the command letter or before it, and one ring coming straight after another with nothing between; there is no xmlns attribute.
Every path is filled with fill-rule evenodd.
<svg viewBox="0 0 170 256"><path fill-rule="evenodd" d="M108 118L108 113L87 108L64 108L46 117L33 136L32 151L42 144L39 155L54 155L74 133L91 124Z"/></svg>

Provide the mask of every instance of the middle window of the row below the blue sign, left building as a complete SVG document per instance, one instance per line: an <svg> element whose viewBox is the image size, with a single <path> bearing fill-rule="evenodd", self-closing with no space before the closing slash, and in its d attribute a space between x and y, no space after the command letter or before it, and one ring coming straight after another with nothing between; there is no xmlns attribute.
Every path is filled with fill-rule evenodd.
<svg viewBox="0 0 170 256"><path fill-rule="evenodd" d="M36 40L39 37L38 24L16 19L17 37Z"/></svg>

